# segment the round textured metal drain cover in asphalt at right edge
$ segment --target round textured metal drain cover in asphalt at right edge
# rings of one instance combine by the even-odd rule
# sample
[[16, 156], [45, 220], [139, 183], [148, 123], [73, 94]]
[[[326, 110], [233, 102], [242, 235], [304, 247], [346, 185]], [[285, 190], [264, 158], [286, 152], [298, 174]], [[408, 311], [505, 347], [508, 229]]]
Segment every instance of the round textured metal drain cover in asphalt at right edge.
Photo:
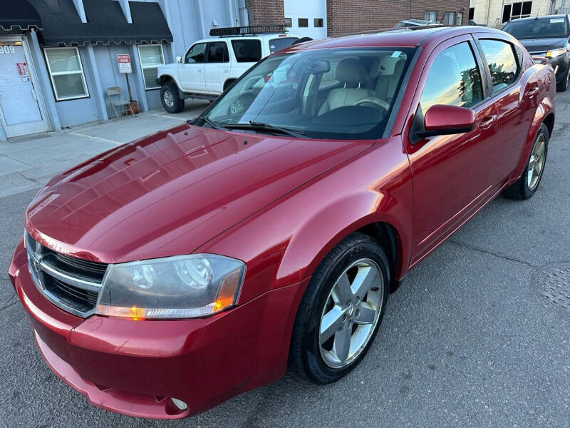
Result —
[[539, 295], [570, 311], [570, 264], [550, 265], [533, 275]]

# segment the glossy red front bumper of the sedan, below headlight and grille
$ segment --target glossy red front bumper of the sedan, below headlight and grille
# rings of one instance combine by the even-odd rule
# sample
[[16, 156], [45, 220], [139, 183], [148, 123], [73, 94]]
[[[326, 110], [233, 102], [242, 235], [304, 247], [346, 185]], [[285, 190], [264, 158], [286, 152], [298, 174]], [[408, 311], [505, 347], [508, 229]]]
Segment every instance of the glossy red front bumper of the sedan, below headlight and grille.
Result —
[[286, 370], [293, 308], [309, 281], [208, 318], [133, 321], [83, 319], [48, 302], [31, 281], [22, 241], [9, 276], [38, 349], [58, 377], [95, 406], [154, 419], [191, 416], [279, 379]]

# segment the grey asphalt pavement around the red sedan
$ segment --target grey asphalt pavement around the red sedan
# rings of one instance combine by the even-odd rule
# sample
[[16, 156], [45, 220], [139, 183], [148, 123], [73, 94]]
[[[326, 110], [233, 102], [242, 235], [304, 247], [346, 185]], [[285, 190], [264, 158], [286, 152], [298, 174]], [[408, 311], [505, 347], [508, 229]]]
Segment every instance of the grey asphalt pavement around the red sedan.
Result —
[[[340, 382], [314, 387], [287, 374], [173, 423], [105, 412], [43, 364], [2, 273], [0, 425], [568, 427], [570, 312], [532, 283], [541, 270], [570, 265], [570, 92], [557, 103], [534, 198], [498, 198], [410, 272], [388, 301], [371, 352]], [[0, 199], [1, 272], [35, 191]]]

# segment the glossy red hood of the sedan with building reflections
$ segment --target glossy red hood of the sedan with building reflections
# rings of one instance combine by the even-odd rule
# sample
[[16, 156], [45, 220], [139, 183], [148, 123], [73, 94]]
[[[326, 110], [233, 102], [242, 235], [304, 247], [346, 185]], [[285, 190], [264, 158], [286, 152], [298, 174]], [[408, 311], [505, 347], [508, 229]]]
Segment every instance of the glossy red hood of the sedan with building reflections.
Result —
[[185, 124], [56, 176], [28, 206], [26, 230], [60, 253], [104, 263], [192, 253], [371, 144]]

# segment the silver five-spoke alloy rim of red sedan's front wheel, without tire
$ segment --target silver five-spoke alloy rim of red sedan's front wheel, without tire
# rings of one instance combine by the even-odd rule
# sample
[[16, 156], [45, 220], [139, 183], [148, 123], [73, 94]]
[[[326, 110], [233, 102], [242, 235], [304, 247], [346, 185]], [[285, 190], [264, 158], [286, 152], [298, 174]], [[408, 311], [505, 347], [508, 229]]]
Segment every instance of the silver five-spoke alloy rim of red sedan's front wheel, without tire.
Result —
[[370, 259], [356, 260], [336, 279], [318, 330], [328, 367], [346, 367], [366, 348], [380, 319], [384, 287], [380, 267]]

